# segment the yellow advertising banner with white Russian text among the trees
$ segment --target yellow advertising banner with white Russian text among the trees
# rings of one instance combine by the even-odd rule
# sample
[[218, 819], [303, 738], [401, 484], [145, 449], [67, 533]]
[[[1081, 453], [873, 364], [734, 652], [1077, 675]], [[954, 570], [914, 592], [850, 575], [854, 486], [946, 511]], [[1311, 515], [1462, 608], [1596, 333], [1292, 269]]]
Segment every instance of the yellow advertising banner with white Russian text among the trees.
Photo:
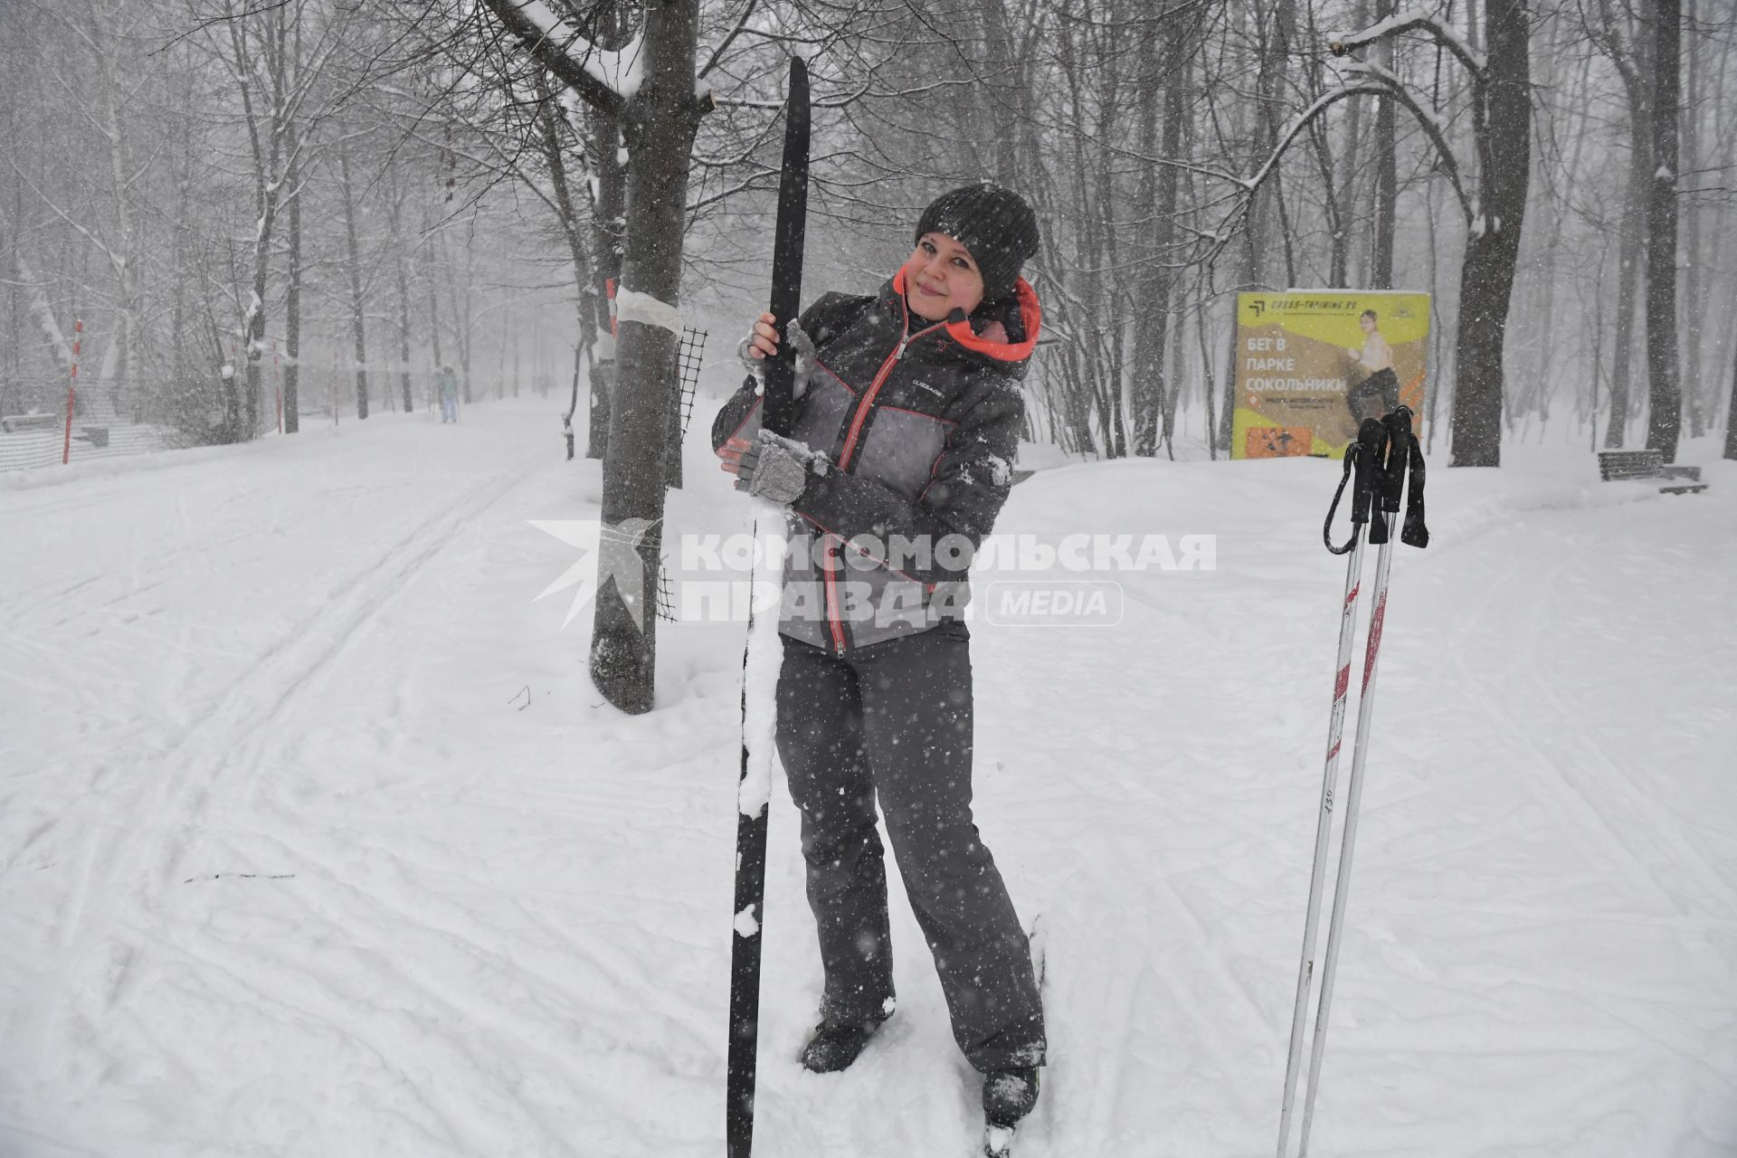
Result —
[[1428, 352], [1428, 293], [1238, 293], [1230, 457], [1343, 458], [1365, 417], [1423, 413]]

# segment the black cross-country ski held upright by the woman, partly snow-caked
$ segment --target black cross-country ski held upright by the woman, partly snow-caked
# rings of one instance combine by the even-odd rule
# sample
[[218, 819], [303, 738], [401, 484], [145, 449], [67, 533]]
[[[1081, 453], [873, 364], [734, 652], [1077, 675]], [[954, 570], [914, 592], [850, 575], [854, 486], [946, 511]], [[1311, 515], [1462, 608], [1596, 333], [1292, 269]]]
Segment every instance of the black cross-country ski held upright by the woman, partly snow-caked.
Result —
[[[778, 181], [778, 226], [771, 250], [771, 314], [780, 333], [796, 318], [802, 299], [802, 233], [808, 224], [808, 66], [790, 57], [790, 92], [783, 122], [783, 175]], [[796, 351], [780, 342], [766, 361], [766, 396], [761, 425], [789, 434], [796, 382]], [[775, 611], [776, 615], [776, 611]], [[766, 790], [750, 783], [750, 745], [769, 736], [749, 734], [749, 694], [766, 705], [773, 688], [749, 688], [749, 651], [754, 613], [749, 611], [749, 649], [742, 655], [742, 778], [736, 785], [736, 906], [730, 950], [730, 1075], [726, 1078], [724, 1141], [730, 1158], [754, 1151], [754, 1073], [759, 1043], [759, 965], [766, 899]], [[759, 707], [759, 705], [757, 705]], [[769, 715], [769, 714], [768, 714]], [[769, 753], [759, 753], [769, 760]]]

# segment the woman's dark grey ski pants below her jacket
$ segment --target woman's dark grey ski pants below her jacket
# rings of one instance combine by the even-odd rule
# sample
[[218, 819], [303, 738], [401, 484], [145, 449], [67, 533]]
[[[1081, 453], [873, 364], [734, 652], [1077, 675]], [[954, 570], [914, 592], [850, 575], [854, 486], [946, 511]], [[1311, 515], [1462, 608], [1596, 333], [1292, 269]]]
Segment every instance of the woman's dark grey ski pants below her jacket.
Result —
[[980, 1071], [1044, 1064], [1044, 1010], [1020, 918], [971, 821], [971, 648], [962, 623], [834, 656], [783, 637], [778, 755], [802, 813], [822, 1017], [891, 1010], [875, 799], [935, 955], [954, 1040]]

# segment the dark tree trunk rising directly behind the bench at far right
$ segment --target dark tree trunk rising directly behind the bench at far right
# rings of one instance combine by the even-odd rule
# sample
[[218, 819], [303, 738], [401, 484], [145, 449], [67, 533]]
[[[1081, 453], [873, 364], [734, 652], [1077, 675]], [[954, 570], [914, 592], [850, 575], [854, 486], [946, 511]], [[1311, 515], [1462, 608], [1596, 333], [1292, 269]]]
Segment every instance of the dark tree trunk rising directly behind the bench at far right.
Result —
[[1647, 205], [1647, 446], [1676, 462], [1683, 398], [1676, 356], [1676, 125], [1683, 14], [1678, 0], [1652, 0], [1652, 200]]

